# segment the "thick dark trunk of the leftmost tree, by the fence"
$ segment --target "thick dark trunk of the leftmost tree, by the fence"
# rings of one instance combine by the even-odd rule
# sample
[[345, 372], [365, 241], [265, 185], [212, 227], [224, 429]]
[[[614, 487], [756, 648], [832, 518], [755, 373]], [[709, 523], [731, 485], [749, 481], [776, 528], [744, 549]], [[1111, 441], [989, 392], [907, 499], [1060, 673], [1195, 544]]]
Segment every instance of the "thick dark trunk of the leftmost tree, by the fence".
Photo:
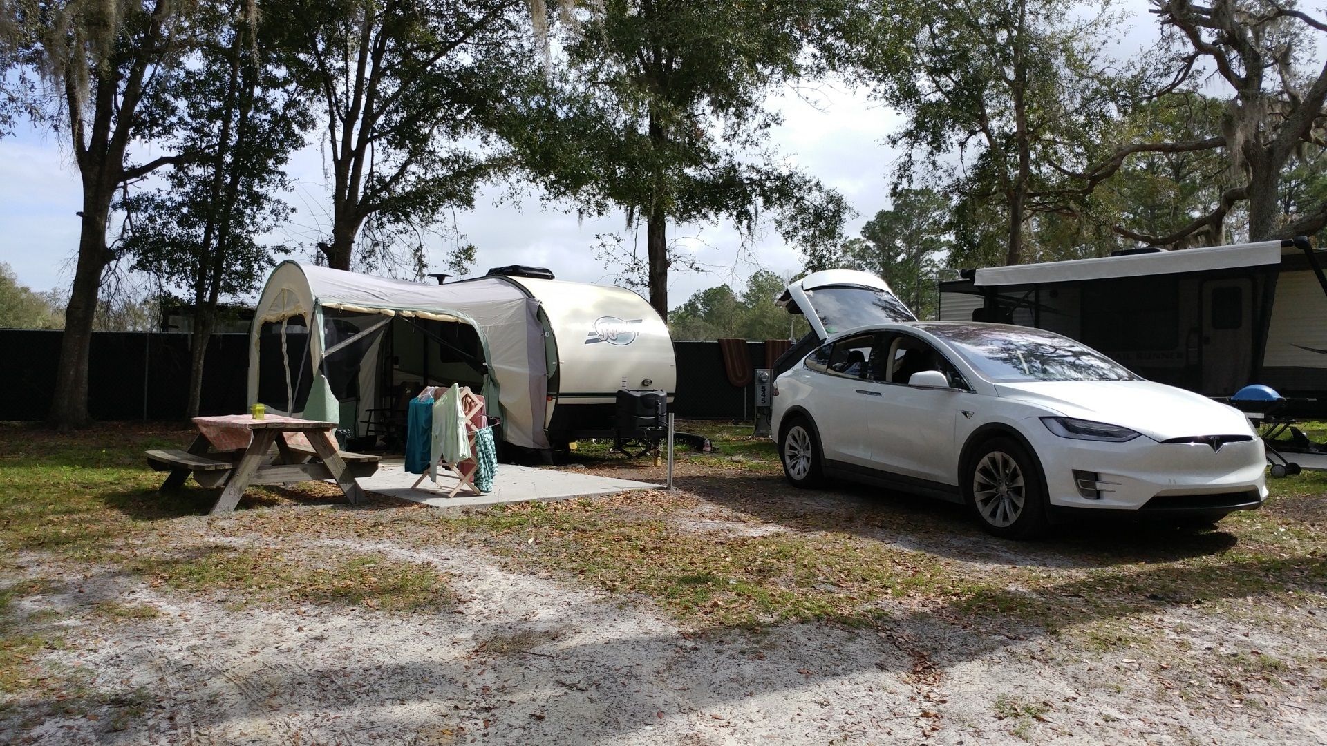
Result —
[[[88, 179], [88, 177], [84, 177]], [[97, 316], [101, 272], [110, 251], [106, 248], [106, 215], [110, 195], [96, 186], [84, 188], [82, 227], [78, 235], [78, 264], [65, 309], [65, 332], [60, 340], [60, 368], [50, 401], [48, 422], [60, 431], [85, 427], [88, 415], [88, 358], [92, 327]]]

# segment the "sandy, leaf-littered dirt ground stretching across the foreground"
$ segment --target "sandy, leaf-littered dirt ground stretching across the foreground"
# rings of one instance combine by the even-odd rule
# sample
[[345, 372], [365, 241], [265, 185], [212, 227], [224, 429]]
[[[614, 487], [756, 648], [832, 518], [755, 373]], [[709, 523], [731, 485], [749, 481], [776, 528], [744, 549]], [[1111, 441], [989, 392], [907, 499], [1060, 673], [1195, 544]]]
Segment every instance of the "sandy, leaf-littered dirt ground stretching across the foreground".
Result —
[[[573, 469], [662, 475], [606, 461]], [[1003, 605], [971, 613], [977, 595], [954, 589], [864, 596], [851, 619], [707, 623], [678, 612], [674, 591], [605, 587], [600, 565], [540, 560], [544, 536], [528, 527], [479, 530], [482, 519], [332, 498], [251, 506], [155, 524], [115, 543], [115, 560], [20, 550], [4, 584], [31, 588], [8, 615], [58, 644], [32, 656], [37, 681], [5, 697], [0, 741], [1327, 743], [1318, 548], [1303, 555], [1316, 563], [1311, 581], [1209, 588], [1208, 569], [1254, 561], [1239, 535], [1074, 527], [1015, 544], [979, 534], [955, 506], [799, 491], [722, 463], [683, 462], [678, 487], [569, 506], [568, 524], [576, 510], [645, 515], [652, 531], [697, 546], [851, 535], [974, 583], [997, 579]], [[1324, 515], [1322, 499], [1306, 499], [1265, 519], [1308, 542]], [[390, 609], [378, 596], [283, 597], [279, 584], [154, 567], [236, 552], [410, 563], [435, 572], [445, 592]], [[1214, 556], [1225, 559], [1186, 569]], [[1097, 604], [1093, 587], [1125, 575], [1129, 585], [1111, 585], [1120, 603]], [[831, 595], [855, 592], [825, 583]], [[1038, 604], [1054, 604], [1054, 625]]]

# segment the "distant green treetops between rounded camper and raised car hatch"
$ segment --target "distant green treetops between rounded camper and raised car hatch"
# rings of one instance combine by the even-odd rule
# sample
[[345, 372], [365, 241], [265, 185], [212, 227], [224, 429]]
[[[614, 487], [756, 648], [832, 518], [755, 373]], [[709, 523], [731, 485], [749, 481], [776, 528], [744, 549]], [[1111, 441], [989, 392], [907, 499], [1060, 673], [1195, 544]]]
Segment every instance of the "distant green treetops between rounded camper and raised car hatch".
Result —
[[746, 289], [729, 285], [697, 291], [669, 315], [674, 340], [787, 340], [807, 333], [805, 319], [774, 304], [787, 281], [767, 269], [747, 279]]

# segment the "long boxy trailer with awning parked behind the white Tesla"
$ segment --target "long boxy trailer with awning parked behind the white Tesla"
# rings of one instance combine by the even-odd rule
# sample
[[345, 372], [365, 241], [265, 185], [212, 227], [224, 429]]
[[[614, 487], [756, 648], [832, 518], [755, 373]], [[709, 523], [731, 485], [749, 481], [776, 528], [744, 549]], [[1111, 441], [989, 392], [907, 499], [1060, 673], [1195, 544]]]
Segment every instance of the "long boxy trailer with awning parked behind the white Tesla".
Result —
[[1327, 414], [1327, 277], [1307, 239], [990, 267], [940, 284], [940, 319], [1058, 332], [1208, 396], [1266, 384]]

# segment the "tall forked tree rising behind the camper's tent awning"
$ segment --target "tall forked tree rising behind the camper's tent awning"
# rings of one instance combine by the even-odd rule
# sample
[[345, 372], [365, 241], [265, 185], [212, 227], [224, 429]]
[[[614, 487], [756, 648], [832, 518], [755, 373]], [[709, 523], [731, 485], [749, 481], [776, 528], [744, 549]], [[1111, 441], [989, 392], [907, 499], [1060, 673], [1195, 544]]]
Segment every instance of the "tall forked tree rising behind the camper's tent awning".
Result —
[[503, 165], [492, 131], [537, 76], [525, 3], [275, 0], [265, 13], [281, 31], [280, 64], [326, 133], [324, 258], [422, 273], [425, 232], [471, 207]]

